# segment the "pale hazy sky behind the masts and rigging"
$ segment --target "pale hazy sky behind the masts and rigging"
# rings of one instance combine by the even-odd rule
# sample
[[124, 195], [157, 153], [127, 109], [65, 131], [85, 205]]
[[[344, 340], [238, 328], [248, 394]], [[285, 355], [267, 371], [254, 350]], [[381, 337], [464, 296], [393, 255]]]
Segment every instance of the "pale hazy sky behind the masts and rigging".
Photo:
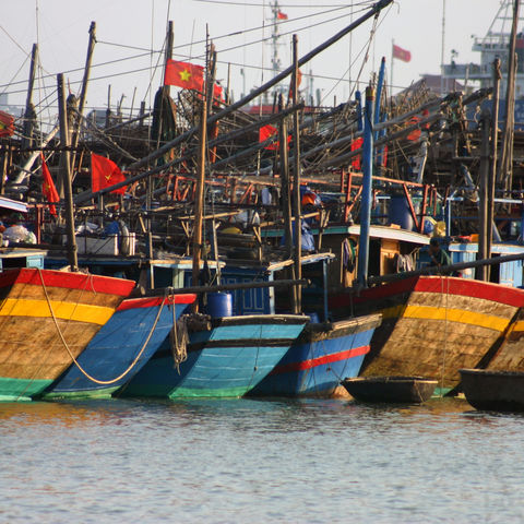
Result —
[[[274, 0], [272, 0], [273, 2]], [[281, 11], [288, 15], [279, 24], [279, 49], [283, 64], [290, 60], [291, 33], [299, 37], [299, 55], [306, 53], [335, 32], [361, 15], [369, 5], [366, 0], [353, 0], [354, 7], [344, 0], [279, 0]], [[260, 85], [271, 78], [271, 46], [262, 45], [264, 34], [271, 27], [241, 33], [270, 24], [270, 1], [262, 0], [2, 0], [0, 20], [0, 93], [9, 93], [10, 104], [23, 104], [29, 70], [28, 56], [33, 43], [40, 49], [40, 75], [34, 100], [43, 106], [56, 99], [56, 73], [64, 72], [76, 92], [82, 78], [87, 48], [91, 21], [97, 24], [97, 44], [94, 52], [92, 83], [87, 105], [105, 107], [108, 85], [111, 85], [111, 104], [122, 95], [123, 107], [130, 107], [136, 87], [134, 107], [141, 99], [146, 104], [162, 81], [162, 56], [167, 20], [175, 23], [175, 59], [191, 59], [202, 63], [206, 24], [218, 52], [217, 78], [227, 76], [227, 62], [231, 63], [231, 90], [238, 99], [246, 87]], [[9, 8], [8, 8], [9, 5]], [[500, 5], [499, 0], [446, 0], [445, 60], [450, 61], [451, 49], [458, 51], [457, 62], [477, 61], [478, 53], [472, 51], [472, 35], [484, 36]], [[341, 9], [342, 8], [342, 9]], [[354, 13], [352, 14], [352, 10]], [[322, 13], [323, 14], [319, 14]], [[325, 104], [347, 98], [357, 80], [372, 22], [368, 21], [330, 50], [317, 57], [310, 66], [302, 68], [315, 75], [313, 90], [321, 90]], [[382, 11], [373, 44], [369, 48], [369, 60], [360, 81], [367, 83], [370, 72], [378, 70], [382, 56], [390, 68], [391, 44], [412, 52], [409, 63], [395, 61], [394, 85], [406, 86], [418, 80], [421, 73], [438, 73], [442, 45], [442, 0], [397, 0]], [[255, 43], [245, 47], [245, 44]], [[191, 43], [193, 43], [191, 45]], [[128, 47], [126, 47], [128, 46]], [[155, 52], [151, 52], [153, 49]], [[110, 64], [103, 64], [109, 62]], [[76, 70], [76, 71], [74, 71]], [[342, 80], [341, 80], [342, 79]], [[390, 79], [390, 76], [389, 76]], [[302, 87], [307, 76], [302, 80]], [[52, 107], [46, 109], [49, 116]]]

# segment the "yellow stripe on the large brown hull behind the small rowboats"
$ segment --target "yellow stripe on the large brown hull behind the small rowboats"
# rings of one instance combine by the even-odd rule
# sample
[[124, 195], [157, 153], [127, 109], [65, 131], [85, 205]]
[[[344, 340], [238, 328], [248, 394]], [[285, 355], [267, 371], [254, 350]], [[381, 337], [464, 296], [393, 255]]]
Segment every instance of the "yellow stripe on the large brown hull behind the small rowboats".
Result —
[[394, 306], [393, 308], [383, 309], [381, 313], [386, 319], [404, 317], [407, 319], [448, 320], [495, 331], [504, 331], [510, 323], [509, 319], [492, 314], [477, 313], [464, 309], [434, 308], [431, 306]]

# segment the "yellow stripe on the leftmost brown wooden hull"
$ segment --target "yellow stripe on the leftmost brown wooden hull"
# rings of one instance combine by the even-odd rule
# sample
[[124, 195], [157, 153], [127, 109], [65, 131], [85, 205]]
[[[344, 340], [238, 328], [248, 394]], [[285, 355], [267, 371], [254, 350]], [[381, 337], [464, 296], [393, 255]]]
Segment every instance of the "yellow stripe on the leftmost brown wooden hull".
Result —
[[[112, 315], [112, 308], [51, 300], [57, 319], [104, 325]], [[0, 306], [0, 317], [51, 317], [47, 300], [7, 298]]]

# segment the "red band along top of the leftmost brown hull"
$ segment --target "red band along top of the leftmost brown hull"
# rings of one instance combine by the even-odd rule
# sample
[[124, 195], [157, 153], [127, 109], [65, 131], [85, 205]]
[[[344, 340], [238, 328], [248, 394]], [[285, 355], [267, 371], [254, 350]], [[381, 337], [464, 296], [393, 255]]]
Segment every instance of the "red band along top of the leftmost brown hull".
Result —
[[[110, 276], [86, 275], [84, 273], [69, 273], [64, 271], [40, 270], [47, 287], [63, 287], [67, 289], [84, 289], [86, 291], [103, 293], [127, 297], [135, 283], [124, 278]], [[36, 269], [5, 270], [0, 273], [0, 287], [13, 284], [29, 284], [41, 286], [40, 275]]]

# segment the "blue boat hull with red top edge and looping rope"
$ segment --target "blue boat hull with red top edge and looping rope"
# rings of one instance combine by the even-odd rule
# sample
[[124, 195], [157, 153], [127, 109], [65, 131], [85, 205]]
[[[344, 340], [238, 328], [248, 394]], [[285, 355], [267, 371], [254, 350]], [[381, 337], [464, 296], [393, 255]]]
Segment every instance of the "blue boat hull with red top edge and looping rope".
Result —
[[44, 398], [110, 396], [142, 369], [169, 335], [172, 308], [177, 320], [195, 298], [175, 295], [124, 300], [78, 359], [91, 378], [72, 365]]

